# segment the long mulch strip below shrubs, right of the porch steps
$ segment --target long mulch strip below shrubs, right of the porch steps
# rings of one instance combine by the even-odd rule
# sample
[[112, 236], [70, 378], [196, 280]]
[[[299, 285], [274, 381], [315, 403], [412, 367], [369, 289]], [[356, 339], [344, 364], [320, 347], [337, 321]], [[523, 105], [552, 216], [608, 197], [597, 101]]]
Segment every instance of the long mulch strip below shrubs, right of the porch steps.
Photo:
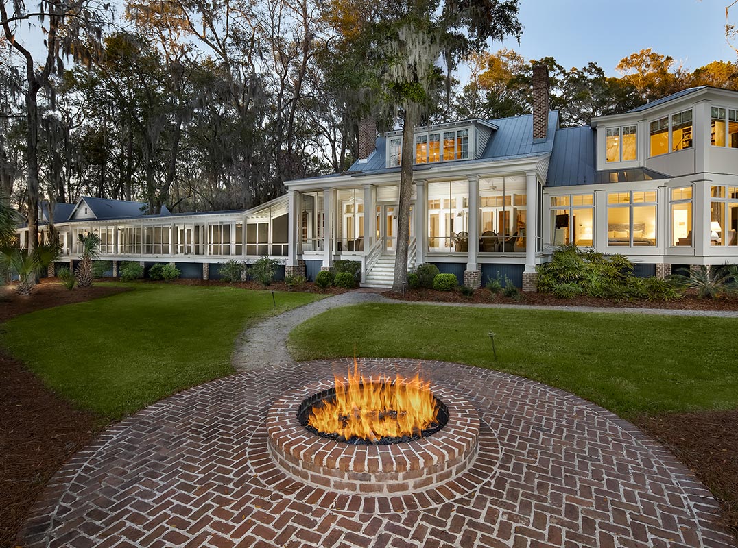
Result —
[[464, 296], [460, 291], [435, 291], [435, 289], [410, 289], [404, 296], [391, 291], [384, 293], [390, 299], [426, 302], [459, 302], [475, 304], [500, 305], [542, 305], [551, 307], [593, 306], [600, 308], [666, 308], [669, 310], [696, 311], [738, 311], [738, 299], [697, 299], [693, 294], [686, 294], [673, 301], [625, 301], [617, 302], [609, 299], [597, 299], [591, 296], [578, 296], [575, 299], [559, 299], [545, 293], [521, 293], [517, 299], [494, 294], [484, 288], [477, 289], [471, 296]]

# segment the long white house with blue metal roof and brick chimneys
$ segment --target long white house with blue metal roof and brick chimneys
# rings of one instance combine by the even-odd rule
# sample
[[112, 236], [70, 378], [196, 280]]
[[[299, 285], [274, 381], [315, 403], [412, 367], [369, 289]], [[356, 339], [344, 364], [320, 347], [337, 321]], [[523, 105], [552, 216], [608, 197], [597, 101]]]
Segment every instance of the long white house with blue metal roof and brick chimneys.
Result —
[[[204, 265], [207, 277], [210, 264], [269, 254], [312, 279], [348, 259], [365, 285], [389, 286], [402, 135], [361, 133], [346, 173], [287, 181], [286, 195], [248, 211], [149, 216], [82, 198], [56, 218], [66, 258], [78, 232], [97, 230], [114, 261], [174, 261], [190, 275]], [[408, 268], [435, 263], [470, 286], [499, 272], [529, 290], [563, 243], [626, 254], [641, 275], [738, 264], [737, 91], [686, 89], [559, 128], [541, 66], [533, 114], [418, 128], [414, 145]]]

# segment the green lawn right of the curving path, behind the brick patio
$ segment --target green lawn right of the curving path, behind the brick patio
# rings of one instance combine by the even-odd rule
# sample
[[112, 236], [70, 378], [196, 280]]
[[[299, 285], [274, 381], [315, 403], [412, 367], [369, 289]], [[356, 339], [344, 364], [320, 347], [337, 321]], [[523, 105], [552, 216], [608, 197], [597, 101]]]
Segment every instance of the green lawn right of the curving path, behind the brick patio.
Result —
[[[497, 333], [498, 363], [488, 332]], [[300, 325], [298, 360], [429, 358], [523, 375], [624, 417], [738, 407], [738, 319], [357, 305]]]

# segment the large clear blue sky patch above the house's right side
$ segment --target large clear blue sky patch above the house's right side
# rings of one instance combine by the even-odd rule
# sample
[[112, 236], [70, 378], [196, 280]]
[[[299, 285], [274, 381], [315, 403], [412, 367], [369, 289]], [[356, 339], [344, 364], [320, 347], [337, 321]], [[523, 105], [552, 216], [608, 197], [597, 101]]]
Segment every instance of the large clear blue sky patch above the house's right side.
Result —
[[[618, 61], [651, 48], [694, 70], [713, 60], [737, 60], [725, 42], [725, 7], [732, 1], [520, 0], [520, 46], [512, 39], [490, 51], [505, 46], [526, 59], [550, 56], [565, 69], [595, 61], [608, 76], [618, 76]], [[738, 4], [730, 13], [738, 25]]]

